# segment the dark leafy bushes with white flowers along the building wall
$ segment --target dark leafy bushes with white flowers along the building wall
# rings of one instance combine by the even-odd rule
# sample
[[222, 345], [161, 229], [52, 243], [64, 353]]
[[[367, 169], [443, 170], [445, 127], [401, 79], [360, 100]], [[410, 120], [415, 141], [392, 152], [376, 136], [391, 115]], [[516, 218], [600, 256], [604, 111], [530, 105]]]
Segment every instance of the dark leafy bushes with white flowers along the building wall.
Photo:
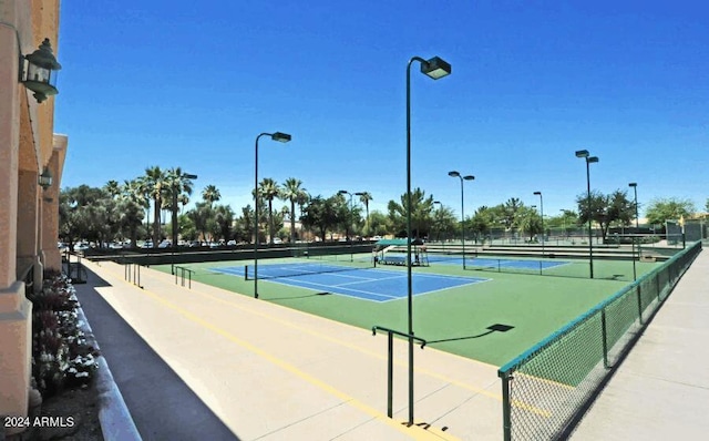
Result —
[[60, 273], [47, 274], [42, 289], [28, 298], [33, 304], [32, 375], [42, 398], [88, 384], [99, 368], [99, 351], [81, 330], [71, 280]]

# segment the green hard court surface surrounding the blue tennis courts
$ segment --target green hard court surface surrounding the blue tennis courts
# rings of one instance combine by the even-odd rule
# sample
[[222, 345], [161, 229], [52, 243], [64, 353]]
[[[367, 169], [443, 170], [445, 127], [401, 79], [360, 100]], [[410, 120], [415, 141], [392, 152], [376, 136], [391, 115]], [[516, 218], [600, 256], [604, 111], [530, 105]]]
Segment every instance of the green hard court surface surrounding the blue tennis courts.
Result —
[[[330, 256], [332, 257], [332, 256]], [[357, 260], [371, 259], [371, 255], [332, 257], [339, 260], [325, 265], [358, 265]], [[259, 259], [259, 273], [270, 264], [292, 264], [307, 259], [280, 258]], [[309, 260], [315, 260], [310, 258]], [[538, 260], [538, 259], [537, 259]], [[561, 261], [561, 260], [559, 260]], [[564, 259], [566, 265], [545, 270], [545, 275], [505, 273], [490, 270], [464, 270], [462, 266], [431, 263], [429, 267], [414, 267], [413, 328], [418, 337], [424, 338], [436, 349], [458, 353], [491, 365], [501, 366], [527, 348], [546, 338], [574, 318], [584, 314], [621, 287], [633, 281], [633, 263], [617, 260], [594, 261], [595, 279], [588, 279], [588, 260]], [[245, 296], [254, 295], [254, 280], [246, 280], [244, 266], [253, 260], [208, 261], [183, 265], [193, 270], [193, 280], [217, 286]], [[659, 264], [636, 263], [638, 277]], [[153, 266], [171, 273], [171, 265]], [[223, 270], [214, 270], [220, 268]], [[225, 268], [238, 268], [234, 273]], [[575, 270], [578, 277], [547, 276], [553, 270]], [[326, 317], [362, 328], [362, 336], [369, 336], [372, 326], [392, 329], [408, 328], [407, 268], [388, 266], [376, 269], [366, 264], [361, 269], [347, 269], [342, 274], [376, 279], [386, 273], [392, 285], [383, 280], [372, 280], [378, 296], [387, 296], [386, 301], [371, 301], [362, 293], [339, 293], [337, 289], [349, 285], [337, 280], [326, 280], [335, 274], [315, 276], [315, 283], [282, 283], [280, 278], [258, 281], [259, 299], [288, 308]], [[359, 274], [359, 275], [358, 275]], [[584, 276], [585, 275], [585, 276]], [[433, 276], [433, 277], [429, 277]], [[443, 276], [443, 277], [441, 277]], [[310, 276], [308, 276], [310, 277]], [[585, 277], [585, 278], [584, 278]], [[259, 275], [260, 278], [260, 275]], [[302, 278], [292, 277], [294, 280]], [[415, 280], [441, 280], [417, 290]], [[489, 279], [485, 283], [453, 284], [452, 280]], [[312, 281], [306, 278], [308, 281]], [[442, 280], [446, 280], [445, 284]], [[351, 279], [358, 286], [361, 279]], [[339, 285], [339, 287], [338, 287]], [[357, 289], [360, 289], [361, 286]], [[193, 289], [194, 286], [193, 286]], [[370, 289], [361, 289], [370, 290]], [[415, 295], [417, 293], [425, 295]], [[380, 298], [380, 297], [378, 297]], [[496, 325], [502, 325], [497, 327]]]

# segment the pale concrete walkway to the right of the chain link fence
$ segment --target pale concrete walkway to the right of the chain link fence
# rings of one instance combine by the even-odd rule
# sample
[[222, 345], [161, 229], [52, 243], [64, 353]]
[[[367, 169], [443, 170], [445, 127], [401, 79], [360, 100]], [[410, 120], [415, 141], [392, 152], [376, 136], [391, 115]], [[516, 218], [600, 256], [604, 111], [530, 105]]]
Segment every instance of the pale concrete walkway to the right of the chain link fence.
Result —
[[709, 252], [703, 250], [572, 439], [707, 439], [708, 341]]

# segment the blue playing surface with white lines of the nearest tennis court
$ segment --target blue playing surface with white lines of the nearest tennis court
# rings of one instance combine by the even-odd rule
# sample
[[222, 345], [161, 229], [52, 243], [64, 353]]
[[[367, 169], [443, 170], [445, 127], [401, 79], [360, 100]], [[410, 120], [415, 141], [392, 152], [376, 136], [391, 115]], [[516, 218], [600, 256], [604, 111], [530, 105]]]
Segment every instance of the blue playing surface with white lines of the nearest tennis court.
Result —
[[[276, 269], [277, 268], [277, 269]], [[292, 270], [292, 275], [284, 275], [282, 268]], [[269, 265], [258, 266], [258, 278], [281, 285], [297, 286], [319, 293], [339, 294], [372, 301], [390, 301], [408, 296], [407, 273], [376, 268], [352, 268], [319, 265], [312, 274], [307, 274], [308, 265], [274, 265], [273, 278], [269, 277]], [[244, 276], [244, 267], [212, 268], [214, 271]], [[316, 273], [319, 271], [319, 273]], [[328, 273], [329, 270], [329, 273]], [[326, 273], [322, 273], [326, 271]], [[250, 267], [249, 267], [250, 273]], [[306, 273], [306, 274], [302, 274]], [[249, 274], [249, 277], [253, 275]], [[414, 296], [430, 294], [443, 289], [474, 285], [486, 281], [480, 277], [456, 277], [436, 274], [413, 274], [412, 291]]]

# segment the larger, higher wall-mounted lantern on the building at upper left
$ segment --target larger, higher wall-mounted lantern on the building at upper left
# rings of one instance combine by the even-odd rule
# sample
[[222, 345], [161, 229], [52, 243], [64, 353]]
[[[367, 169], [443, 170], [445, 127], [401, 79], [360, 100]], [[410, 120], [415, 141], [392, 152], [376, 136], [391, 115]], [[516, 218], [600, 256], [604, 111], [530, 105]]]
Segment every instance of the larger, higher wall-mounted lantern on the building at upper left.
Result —
[[[27, 63], [24, 63], [27, 60]], [[27, 65], [27, 69], [24, 66]], [[40, 48], [29, 55], [20, 59], [20, 82], [24, 83], [27, 89], [34, 92], [38, 103], [47, 100], [48, 96], [59, 93], [56, 90], [56, 72], [62, 65], [56, 62], [52, 53], [52, 44], [49, 39], [44, 39]]]

